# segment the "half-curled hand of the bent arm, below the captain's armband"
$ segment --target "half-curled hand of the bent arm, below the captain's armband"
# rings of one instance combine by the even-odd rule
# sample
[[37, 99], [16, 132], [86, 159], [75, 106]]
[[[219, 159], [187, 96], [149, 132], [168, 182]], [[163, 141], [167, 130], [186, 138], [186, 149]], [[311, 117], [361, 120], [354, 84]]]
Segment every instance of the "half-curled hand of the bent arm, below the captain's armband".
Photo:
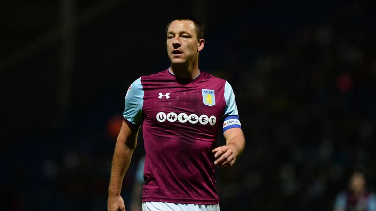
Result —
[[214, 165], [221, 169], [227, 169], [234, 165], [236, 161], [236, 152], [231, 145], [224, 145], [211, 151], [214, 153]]

